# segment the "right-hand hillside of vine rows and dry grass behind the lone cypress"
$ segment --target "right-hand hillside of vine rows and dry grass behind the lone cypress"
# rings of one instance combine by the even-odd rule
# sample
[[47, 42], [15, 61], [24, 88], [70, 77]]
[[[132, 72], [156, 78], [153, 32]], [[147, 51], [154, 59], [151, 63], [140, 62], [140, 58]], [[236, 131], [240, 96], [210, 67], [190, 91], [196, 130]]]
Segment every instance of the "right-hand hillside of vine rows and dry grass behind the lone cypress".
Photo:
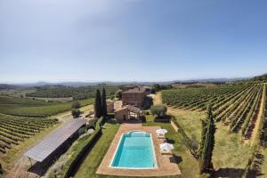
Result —
[[[200, 120], [206, 117], [206, 105], [212, 104], [217, 128], [213, 176], [242, 177], [248, 173], [265, 177], [267, 154], [262, 145], [266, 144], [263, 134], [267, 128], [266, 113], [264, 116], [266, 89], [264, 84], [223, 85], [208, 89], [166, 90], [161, 95], [162, 101], [169, 106], [169, 113], [185, 133], [198, 142]], [[262, 155], [260, 160], [258, 155]]]

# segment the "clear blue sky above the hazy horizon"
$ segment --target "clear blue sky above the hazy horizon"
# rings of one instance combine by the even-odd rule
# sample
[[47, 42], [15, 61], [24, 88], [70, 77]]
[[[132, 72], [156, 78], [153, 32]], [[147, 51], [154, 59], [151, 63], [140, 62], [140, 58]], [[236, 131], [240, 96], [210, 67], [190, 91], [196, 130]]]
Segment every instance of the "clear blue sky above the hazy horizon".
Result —
[[0, 0], [0, 82], [267, 72], [265, 0]]

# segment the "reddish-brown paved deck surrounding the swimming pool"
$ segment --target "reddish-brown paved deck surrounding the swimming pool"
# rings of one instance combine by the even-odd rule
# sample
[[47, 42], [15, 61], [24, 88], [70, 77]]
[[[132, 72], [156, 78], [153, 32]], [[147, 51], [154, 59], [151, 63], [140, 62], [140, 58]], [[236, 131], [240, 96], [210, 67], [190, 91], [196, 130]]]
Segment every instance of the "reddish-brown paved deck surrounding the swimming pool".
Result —
[[[142, 126], [142, 124], [122, 124], [120, 125], [117, 134], [115, 135], [113, 142], [109, 146], [109, 150], [103, 158], [101, 165], [98, 167], [96, 174], [109, 174], [120, 176], [166, 176], [166, 175], [178, 175], [181, 171], [172, 155], [161, 155], [159, 150], [159, 144], [164, 142], [163, 139], [158, 139], [156, 130], [159, 126]], [[129, 131], [140, 130], [152, 134], [152, 139], [155, 148], [155, 154], [157, 158], [158, 167], [154, 169], [121, 169], [110, 167], [110, 162], [115, 155], [117, 144], [122, 134]]]

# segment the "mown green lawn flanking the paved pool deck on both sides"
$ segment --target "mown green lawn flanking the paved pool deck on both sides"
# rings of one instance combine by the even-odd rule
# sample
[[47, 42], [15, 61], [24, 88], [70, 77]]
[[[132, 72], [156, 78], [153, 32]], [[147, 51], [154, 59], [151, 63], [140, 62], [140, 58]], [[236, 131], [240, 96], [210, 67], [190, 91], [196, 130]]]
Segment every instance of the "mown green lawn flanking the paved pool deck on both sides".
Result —
[[[166, 128], [169, 133], [166, 134], [169, 142], [174, 143], [174, 150], [176, 155], [178, 156], [179, 160], [179, 167], [182, 170], [182, 176], [180, 177], [198, 177], [198, 168], [194, 168], [193, 170], [191, 167], [198, 167], [198, 163], [195, 158], [192, 158], [190, 152], [186, 150], [181, 145], [181, 138], [179, 134], [174, 132], [174, 129], [169, 123], [155, 123], [152, 117], [147, 118], [147, 123], [143, 124], [144, 126], [150, 125], [160, 125], [162, 128]], [[95, 174], [98, 166], [101, 164], [102, 158], [104, 158], [107, 150], [109, 149], [110, 143], [113, 141], [115, 134], [117, 133], [118, 129], [117, 125], [106, 124], [106, 129], [103, 129], [103, 134], [101, 138], [93, 147], [93, 150], [87, 155], [83, 164], [77, 170], [77, 174], [75, 175], [76, 178], [111, 178], [111, 177], [118, 177], [113, 175], [99, 175]], [[177, 176], [166, 176], [164, 178], [174, 178]]]

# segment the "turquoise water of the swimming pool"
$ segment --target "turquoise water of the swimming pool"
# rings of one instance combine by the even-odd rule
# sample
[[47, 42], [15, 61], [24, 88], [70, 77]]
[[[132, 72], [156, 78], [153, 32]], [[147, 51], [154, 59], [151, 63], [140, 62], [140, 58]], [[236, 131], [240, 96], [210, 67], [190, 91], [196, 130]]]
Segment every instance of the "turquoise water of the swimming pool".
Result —
[[151, 135], [133, 131], [123, 134], [111, 166], [119, 168], [155, 168], [156, 158]]

